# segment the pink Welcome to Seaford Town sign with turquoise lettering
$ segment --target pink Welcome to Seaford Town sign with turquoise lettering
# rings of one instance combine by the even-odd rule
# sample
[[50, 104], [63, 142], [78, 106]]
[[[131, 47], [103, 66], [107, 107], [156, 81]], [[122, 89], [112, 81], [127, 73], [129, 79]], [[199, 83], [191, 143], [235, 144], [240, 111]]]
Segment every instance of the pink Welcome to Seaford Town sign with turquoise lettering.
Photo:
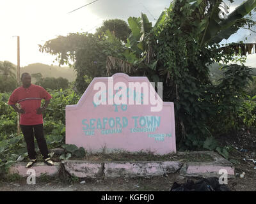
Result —
[[66, 143], [88, 152], [176, 152], [174, 106], [147, 77], [94, 78], [76, 105], [66, 106]]

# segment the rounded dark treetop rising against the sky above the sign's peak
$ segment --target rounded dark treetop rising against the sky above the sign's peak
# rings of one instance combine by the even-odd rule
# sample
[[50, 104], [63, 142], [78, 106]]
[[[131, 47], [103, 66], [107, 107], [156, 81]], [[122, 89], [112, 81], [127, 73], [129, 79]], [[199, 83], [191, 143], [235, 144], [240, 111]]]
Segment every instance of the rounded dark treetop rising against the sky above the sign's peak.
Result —
[[99, 36], [99, 38], [102, 39], [108, 30], [113, 33], [116, 38], [124, 42], [127, 41], [127, 38], [131, 33], [131, 29], [124, 20], [110, 19], [104, 20], [103, 25], [96, 29], [95, 36]]

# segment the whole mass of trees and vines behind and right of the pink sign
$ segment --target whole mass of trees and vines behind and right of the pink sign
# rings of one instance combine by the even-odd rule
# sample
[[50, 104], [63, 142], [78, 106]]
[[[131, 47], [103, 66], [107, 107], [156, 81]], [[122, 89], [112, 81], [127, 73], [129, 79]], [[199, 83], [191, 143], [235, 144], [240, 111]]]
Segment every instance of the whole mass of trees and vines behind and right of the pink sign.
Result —
[[[220, 3], [221, 0], [172, 1], [154, 27], [143, 13], [138, 18], [130, 17], [131, 34], [125, 45], [111, 31], [100, 39], [77, 33], [47, 41], [41, 51], [57, 55], [60, 64], [76, 59], [76, 85], [81, 93], [92, 78], [120, 71], [163, 82], [163, 100], [175, 103], [179, 149], [211, 149], [227, 157], [212, 135], [241, 126], [238, 116], [251, 73], [243, 66], [243, 50], [234, 45], [221, 48], [218, 43], [248, 24], [244, 15], [256, 3], [246, 1], [227, 19], [218, 17]], [[224, 67], [220, 81], [212, 84], [209, 66], [220, 61], [242, 65]], [[243, 123], [252, 122], [241, 117], [246, 118]]]

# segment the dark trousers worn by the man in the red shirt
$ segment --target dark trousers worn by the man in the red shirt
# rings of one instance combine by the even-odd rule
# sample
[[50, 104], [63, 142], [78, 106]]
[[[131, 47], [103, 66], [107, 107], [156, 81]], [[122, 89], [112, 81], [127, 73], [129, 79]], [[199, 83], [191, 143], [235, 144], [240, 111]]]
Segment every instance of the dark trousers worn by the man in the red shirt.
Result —
[[43, 158], [46, 159], [47, 157], [49, 157], [46, 140], [44, 138], [43, 124], [38, 124], [34, 126], [20, 125], [20, 129], [24, 135], [24, 139], [27, 144], [29, 159], [36, 159], [34, 133], [35, 133], [36, 142], [38, 144], [39, 150]]

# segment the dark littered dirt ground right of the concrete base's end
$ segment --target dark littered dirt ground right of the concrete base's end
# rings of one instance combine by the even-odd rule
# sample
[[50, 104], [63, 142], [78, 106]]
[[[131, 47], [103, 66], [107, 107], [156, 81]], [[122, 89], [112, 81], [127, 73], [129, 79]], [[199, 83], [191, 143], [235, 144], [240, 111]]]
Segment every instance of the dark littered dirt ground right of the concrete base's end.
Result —
[[[232, 191], [256, 191], [256, 130], [241, 129], [237, 133], [221, 135], [217, 141], [228, 147], [229, 160], [235, 168], [236, 178], [230, 179]], [[244, 173], [241, 179], [240, 175]]]

